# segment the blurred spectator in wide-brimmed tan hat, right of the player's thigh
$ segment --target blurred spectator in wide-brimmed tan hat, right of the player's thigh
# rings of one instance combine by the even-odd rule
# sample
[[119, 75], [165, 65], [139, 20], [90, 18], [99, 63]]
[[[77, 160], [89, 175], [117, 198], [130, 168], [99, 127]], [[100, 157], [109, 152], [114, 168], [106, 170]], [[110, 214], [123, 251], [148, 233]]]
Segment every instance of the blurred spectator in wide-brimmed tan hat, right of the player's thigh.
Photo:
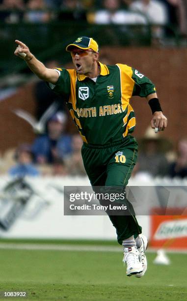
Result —
[[[161, 151], [161, 138], [152, 128], [148, 128], [140, 143], [140, 152], [137, 157], [136, 173], [151, 177], [163, 177], [168, 173], [168, 162]], [[165, 143], [167, 141], [164, 140]]]

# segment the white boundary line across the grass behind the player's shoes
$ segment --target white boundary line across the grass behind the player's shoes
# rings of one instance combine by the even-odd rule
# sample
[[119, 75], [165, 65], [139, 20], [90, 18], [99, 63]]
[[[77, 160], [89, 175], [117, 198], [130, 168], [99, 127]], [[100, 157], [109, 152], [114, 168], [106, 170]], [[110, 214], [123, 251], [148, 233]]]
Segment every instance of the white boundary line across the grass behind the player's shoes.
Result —
[[[47, 243], [11, 243], [0, 242], [0, 249], [11, 250], [43, 250], [43, 251], [89, 251], [89, 252], [121, 252], [120, 246], [108, 246], [108, 245], [82, 245], [82, 244], [47, 244]], [[156, 248], [148, 248], [148, 253], [157, 252]], [[167, 253], [184, 253], [187, 254], [187, 250], [167, 250]]]

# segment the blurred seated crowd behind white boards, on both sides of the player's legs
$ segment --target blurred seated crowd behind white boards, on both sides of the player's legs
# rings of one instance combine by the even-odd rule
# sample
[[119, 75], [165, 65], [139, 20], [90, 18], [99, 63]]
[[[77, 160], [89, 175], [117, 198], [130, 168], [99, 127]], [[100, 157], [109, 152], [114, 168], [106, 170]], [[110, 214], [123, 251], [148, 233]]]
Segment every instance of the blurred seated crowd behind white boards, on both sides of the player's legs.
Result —
[[[82, 139], [79, 133], [67, 132], [66, 114], [56, 112], [47, 121], [44, 134], [36, 135], [32, 144], [23, 143], [11, 150], [6, 173], [12, 177], [86, 176], [81, 158]], [[148, 127], [138, 142], [138, 159], [132, 178], [140, 181], [156, 177], [187, 178], [187, 137], [173, 147], [160, 133], [155, 134]]]

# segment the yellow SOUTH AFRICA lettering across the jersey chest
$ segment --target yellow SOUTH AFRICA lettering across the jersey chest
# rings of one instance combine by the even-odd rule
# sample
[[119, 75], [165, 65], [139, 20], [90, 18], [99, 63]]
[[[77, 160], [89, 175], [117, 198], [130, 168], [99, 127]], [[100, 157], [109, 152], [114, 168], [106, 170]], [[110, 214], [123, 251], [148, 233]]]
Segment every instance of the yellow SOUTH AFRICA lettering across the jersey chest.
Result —
[[106, 106], [100, 106], [99, 112], [97, 112], [96, 107], [91, 108], [77, 108], [77, 114], [78, 118], [80, 117], [97, 117], [97, 114], [99, 116], [106, 116], [106, 115], [113, 115], [113, 114], [119, 114], [122, 113], [123, 109], [120, 103], [115, 103], [112, 105], [106, 105]]

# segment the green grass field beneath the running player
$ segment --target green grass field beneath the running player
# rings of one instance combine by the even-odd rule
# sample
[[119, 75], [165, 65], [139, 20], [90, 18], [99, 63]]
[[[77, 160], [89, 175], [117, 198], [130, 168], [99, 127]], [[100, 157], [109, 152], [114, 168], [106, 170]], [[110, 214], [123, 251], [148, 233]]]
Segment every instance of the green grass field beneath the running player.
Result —
[[[149, 269], [144, 277], [135, 278], [126, 276], [122, 254], [107, 250], [113, 243], [103, 244], [106, 251], [99, 250], [101, 244], [99, 251], [78, 251], [78, 244], [69, 245], [71, 250], [4, 246], [0, 249], [0, 291], [27, 291], [27, 300], [187, 300], [187, 254], [169, 253], [171, 265], [156, 266], [156, 254], [148, 252]], [[85, 242], [79, 246], [81, 249]]]

